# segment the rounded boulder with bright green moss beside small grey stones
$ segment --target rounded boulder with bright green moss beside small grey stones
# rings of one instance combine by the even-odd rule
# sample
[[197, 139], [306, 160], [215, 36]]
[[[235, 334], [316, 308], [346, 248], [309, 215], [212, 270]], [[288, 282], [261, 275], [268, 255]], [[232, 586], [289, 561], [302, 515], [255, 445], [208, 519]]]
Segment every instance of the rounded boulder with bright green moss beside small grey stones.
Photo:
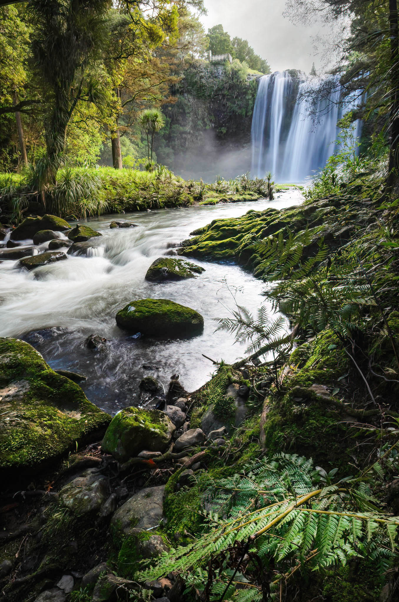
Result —
[[174, 432], [174, 424], [159, 410], [125, 408], [113, 417], [108, 426], [102, 450], [125, 462], [143, 450], [163, 452]]

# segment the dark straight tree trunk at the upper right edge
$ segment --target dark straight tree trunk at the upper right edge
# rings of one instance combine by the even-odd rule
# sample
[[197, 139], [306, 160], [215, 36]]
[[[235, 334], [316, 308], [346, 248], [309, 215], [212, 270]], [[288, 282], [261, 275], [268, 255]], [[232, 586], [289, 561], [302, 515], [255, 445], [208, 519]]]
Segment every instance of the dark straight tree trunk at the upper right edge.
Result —
[[399, 167], [399, 31], [397, 0], [389, 0], [389, 33], [391, 39], [391, 140], [387, 183], [388, 188], [393, 188], [398, 179]]

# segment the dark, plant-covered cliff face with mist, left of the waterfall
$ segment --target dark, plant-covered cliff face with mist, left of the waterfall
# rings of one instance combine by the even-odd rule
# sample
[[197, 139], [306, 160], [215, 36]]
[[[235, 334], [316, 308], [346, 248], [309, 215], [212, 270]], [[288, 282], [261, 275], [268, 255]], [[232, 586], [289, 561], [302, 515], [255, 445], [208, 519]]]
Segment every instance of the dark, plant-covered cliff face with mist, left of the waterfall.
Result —
[[257, 79], [242, 70], [193, 63], [164, 105], [166, 127], [154, 144], [160, 163], [185, 178], [234, 177], [250, 169]]

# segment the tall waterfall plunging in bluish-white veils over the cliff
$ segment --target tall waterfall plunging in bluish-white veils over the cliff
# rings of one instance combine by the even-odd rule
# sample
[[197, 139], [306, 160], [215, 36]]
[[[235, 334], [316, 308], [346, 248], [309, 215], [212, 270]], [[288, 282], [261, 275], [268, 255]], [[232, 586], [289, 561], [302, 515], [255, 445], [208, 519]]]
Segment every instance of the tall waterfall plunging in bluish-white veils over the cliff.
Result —
[[[337, 122], [359, 105], [359, 94], [343, 100], [335, 78], [332, 91], [311, 111], [307, 92], [317, 93], [322, 81], [288, 71], [260, 78], [251, 129], [253, 176], [271, 172], [279, 182], [302, 182], [336, 152]], [[357, 122], [355, 135], [360, 131]]]

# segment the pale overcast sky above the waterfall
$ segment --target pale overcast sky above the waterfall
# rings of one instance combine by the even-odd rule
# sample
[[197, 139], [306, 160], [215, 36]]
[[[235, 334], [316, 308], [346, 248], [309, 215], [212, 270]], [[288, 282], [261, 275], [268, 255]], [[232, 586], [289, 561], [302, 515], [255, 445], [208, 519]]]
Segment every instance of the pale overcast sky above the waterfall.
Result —
[[315, 54], [312, 37], [322, 34], [322, 28], [294, 25], [284, 19], [285, 0], [205, 0], [205, 5], [208, 14], [201, 18], [206, 31], [222, 23], [231, 37], [247, 39], [272, 71], [301, 69], [309, 73], [313, 61], [319, 69], [321, 57]]

